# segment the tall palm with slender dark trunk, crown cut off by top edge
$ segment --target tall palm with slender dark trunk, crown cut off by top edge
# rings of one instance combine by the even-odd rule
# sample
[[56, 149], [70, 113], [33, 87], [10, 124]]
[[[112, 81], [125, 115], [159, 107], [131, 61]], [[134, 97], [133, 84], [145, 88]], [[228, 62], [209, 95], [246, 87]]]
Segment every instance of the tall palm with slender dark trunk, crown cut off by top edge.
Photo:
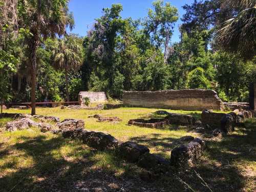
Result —
[[69, 0], [19, 0], [19, 28], [28, 29], [26, 42], [29, 48], [31, 67], [31, 114], [35, 114], [36, 50], [42, 39], [66, 33], [66, 26], [73, 27], [73, 17], [68, 13]]

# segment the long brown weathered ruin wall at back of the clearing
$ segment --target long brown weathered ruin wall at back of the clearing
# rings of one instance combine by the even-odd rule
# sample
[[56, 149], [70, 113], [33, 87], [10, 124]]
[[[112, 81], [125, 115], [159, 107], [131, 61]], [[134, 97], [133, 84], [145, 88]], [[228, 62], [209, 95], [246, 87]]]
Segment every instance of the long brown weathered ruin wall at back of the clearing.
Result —
[[214, 90], [124, 91], [123, 104], [173, 110], [223, 110]]

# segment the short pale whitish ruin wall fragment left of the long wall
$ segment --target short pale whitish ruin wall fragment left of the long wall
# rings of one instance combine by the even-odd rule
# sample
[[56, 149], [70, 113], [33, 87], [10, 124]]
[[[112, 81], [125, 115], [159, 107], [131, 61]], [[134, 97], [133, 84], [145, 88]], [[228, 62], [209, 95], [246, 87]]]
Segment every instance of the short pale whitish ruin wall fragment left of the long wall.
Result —
[[82, 99], [85, 97], [88, 97], [91, 103], [106, 101], [106, 95], [104, 92], [81, 91], [79, 92], [79, 95], [78, 95], [79, 104], [82, 104]]

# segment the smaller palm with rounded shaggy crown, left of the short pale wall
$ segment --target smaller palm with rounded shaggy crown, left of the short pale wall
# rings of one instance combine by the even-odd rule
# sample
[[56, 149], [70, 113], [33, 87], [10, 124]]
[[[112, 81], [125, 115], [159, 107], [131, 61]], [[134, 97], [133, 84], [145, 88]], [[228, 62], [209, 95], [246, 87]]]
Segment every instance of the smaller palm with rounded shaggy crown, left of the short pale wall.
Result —
[[69, 102], [69, 71], [77, 71], [82, 65], [82, 48], [75, 35], [66, 35], [58, 42], [58, 49], [54, 52], [54, 66], [64, 70], [66, 77], [66, 100]]

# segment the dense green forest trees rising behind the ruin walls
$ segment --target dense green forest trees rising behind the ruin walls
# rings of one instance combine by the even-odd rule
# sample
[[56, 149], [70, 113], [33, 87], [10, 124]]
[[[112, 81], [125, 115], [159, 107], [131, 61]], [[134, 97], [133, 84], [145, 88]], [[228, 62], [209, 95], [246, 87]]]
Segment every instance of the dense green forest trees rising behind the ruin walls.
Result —
[[[216, 0], [184, 5], [180, 41], [172, 42], [178, 10], [162, 0], [139, 20], [122, 18], [120, 4], [104, 8], [85, 37], [66, 33], [65, 25], [74, 25], [67, 3], [19, 0], [18, 35], [11, 33], [14, 25], [1, 21], [2, 100], [30, 101], [34, 69], [36, 101], [76, 101], [81, 90], [121, 98], [123, 90], [187, 88], [214, 89], [225, 101], [248, 101], [249, 82], [256, 81], [255, 53], [248, 59], [227, 53], [215, 36], [215, 29], [242, 8]], [[33, 21], [39, 27], [30, 25]]]

